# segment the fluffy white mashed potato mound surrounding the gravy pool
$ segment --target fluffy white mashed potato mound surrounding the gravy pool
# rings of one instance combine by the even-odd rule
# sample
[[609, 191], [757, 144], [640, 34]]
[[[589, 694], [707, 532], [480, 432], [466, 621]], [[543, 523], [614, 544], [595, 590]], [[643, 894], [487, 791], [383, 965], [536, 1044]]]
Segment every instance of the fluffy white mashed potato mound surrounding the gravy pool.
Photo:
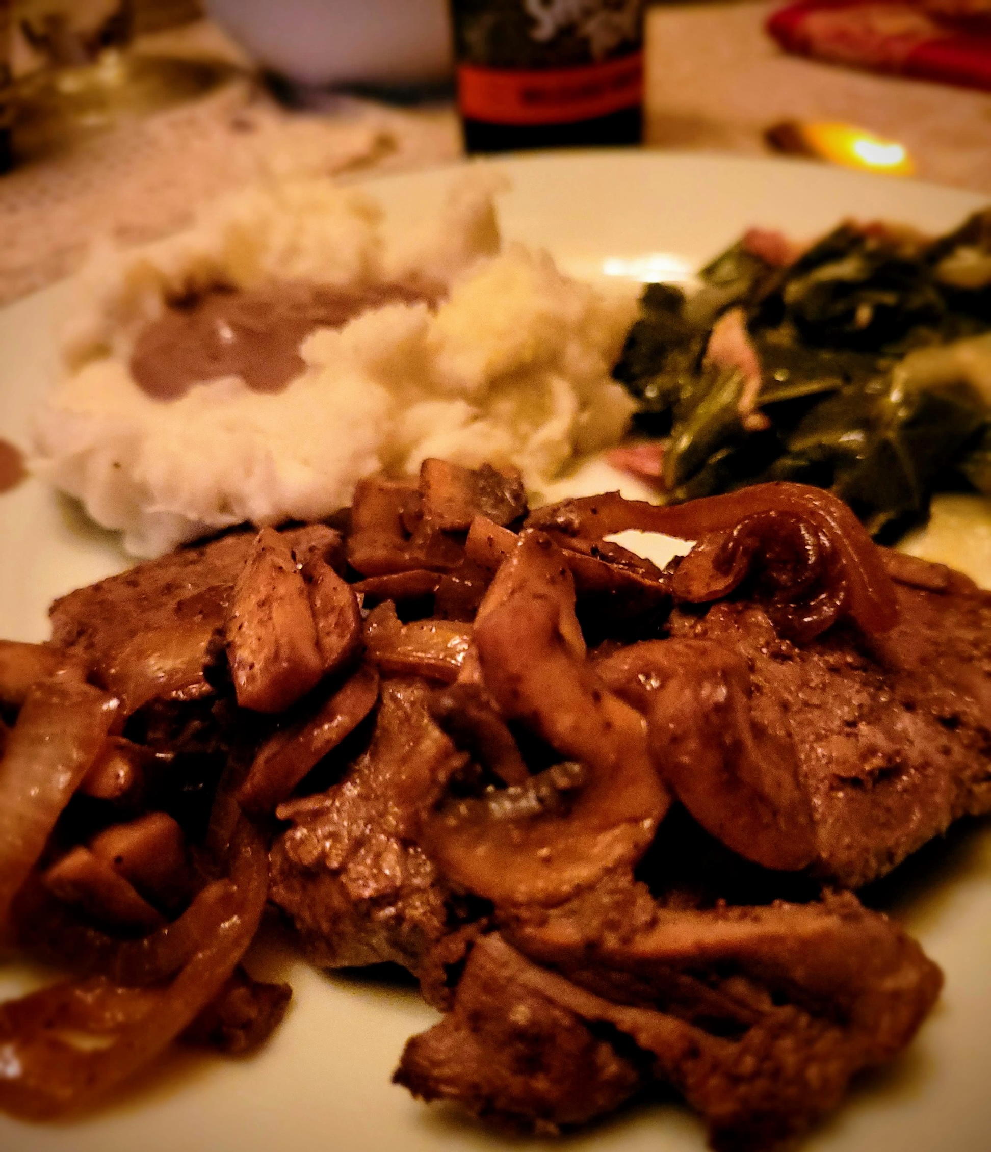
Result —
[[[622, 434], [633, 402], [610, 369], [631, 295], [606, 295], [551, 258], [502, 245], [491, 179], [475, 172], [419, 232], [389, 240], [365, 194], [323, 180], [259, 185], [192, 230], [98, 253], [63, 342], [65, 378], [37, 418], [36, 471], [80, 499], [135, 555], [242, 521], [325, 516], [355, 482], [426, 456], [514, 464], [539, 491]], [[168, 301], [215, 285], [402, 282], [440, 303], [392, 303], [301, 344], [280, 393], [236, 376], [153, 399], [129, 370]]]

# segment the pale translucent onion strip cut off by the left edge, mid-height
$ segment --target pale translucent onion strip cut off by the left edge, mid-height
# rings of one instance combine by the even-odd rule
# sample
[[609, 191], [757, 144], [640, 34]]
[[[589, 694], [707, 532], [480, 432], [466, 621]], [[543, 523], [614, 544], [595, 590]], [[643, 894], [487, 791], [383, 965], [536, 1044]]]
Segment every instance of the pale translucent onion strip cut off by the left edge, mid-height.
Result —
[[28, 690], [0, 760], [0, 924], [100, 751], [119, 705], [74, 680], [41, 680]]

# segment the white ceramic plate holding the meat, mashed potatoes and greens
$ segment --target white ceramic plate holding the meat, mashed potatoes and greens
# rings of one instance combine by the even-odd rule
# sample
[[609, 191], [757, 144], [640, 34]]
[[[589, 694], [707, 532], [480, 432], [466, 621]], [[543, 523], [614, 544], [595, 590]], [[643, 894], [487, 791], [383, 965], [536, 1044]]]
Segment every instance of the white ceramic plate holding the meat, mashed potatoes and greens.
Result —
[[[944, 230], [983, 206], [974, 195], [803, 162], [649, 152], [507, 159], [507, 237], [544, 244], [572, 272], [671, 279], [751, 225], [811, 237], [846, 215]], [[402, 226], [429, 213], [452, 172], [370, 184]], [[53, 370], [52, 329], [67, 286], [0, 313], [0, 435], [27, 444], [28, 414]], [[967, 543], [962, 541], [962, 547]], [[116, 540], [86, 525], [37, 482], [0, 495], [0, 636], [47, 635], [62, 592], [126, 566]], [[991, 828], [955, 829], [888, 885], [902, 917], [946, 972], [946, 991], [918, 1040], [861, 1081], [802, 1145], [807, 1152], [986, 1152], [991, 1146]], [[907, 873], [907, 874], [906, 874]], [[279, 940], [256, 947], [256, 975], [288, 979], [294, 1000], [271, 1044], [247, 1060], [180, 1055], [119, 1100], [71, 1124], [0, 1117], [6, 1152], [469, 1152], [532, 1149], [446, 1107], [416, 1104], [389, 1077], [403, 1041], [436, 1018], [414, 988], [308, 969]], [[17, 973], [0, 983], [12, 994]], [[665, 1102], [622, 1112], [558, 1147], [568, 1152], [701, 1152], [701, 1123]]]

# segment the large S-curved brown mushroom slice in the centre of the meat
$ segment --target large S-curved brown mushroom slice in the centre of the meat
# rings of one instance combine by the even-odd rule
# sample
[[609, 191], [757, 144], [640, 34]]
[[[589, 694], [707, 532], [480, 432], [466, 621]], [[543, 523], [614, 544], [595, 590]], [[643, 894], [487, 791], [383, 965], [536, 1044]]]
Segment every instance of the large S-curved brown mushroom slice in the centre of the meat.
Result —
[[498, 818], [492, 804], [442, 808], [424, 817], [422, 834], [447, 876], [497, 903], [554, 904], [635, 862], [667, 809], [643, 718], [575, 651], [566, 637], [577, 631], [560, 550], [524, 533], [478, 614], [485, 683], [504, 715], [581, 761], [583, 779], [557, 789], [568, 794], [562, 803], [524, 804], [519, 818], [519, 809]]

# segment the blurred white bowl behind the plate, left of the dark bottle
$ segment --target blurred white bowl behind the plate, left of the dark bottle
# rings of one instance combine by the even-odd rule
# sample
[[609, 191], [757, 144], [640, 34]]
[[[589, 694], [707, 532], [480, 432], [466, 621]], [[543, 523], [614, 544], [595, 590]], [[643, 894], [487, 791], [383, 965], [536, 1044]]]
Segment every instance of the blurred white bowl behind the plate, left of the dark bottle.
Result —
[[302, 84], [418, 84], [451, 74], [447, 0], [206, 0], [266, 68]]

